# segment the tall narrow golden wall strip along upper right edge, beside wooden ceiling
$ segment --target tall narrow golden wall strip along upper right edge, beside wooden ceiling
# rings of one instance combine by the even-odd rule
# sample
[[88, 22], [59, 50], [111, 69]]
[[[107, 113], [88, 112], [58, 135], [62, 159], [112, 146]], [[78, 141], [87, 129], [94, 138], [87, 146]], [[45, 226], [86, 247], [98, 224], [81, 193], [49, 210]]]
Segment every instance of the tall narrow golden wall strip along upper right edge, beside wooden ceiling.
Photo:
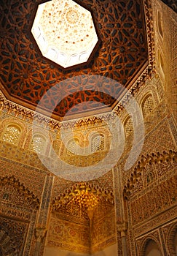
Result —
[[[173, 1], [164, 1], [175, 7]], [[156, 51], [156, 66], [162, 79], [165, 97], [170, 111], [176, 121], [176, 31], [177, 14], [170, 10], [162, 1], [153, 1], [154, 12], [154, 38]]]

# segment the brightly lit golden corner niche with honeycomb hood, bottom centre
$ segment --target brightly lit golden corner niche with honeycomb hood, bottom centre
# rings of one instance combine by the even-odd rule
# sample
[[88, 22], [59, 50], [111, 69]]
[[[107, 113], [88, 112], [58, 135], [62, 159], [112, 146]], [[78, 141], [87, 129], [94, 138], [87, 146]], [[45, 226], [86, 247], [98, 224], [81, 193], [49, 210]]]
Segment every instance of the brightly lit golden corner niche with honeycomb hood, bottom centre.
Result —
[[[61, 249], [82, 252], [83, 242], [84, 246], [87, 245], [84, 252], [95, 252], [115, 244], [114, 195], [109, 189], [103, 189], [98, 185], [94, 187], [90, 182], [73, 184], [70, 189], [55, 197], [51, 206], [50, 230], [55, 229], [52, 224], [54, 219], [55, 222], [70, 223], [68, 225], [71, 225], [74, 230], [72, 238], [74, 240], [60, 238], [61, 243], [58, 244], [56, 241], [59, 238], [56, 236], [56, 231], [53, 233], [50, 231], [47, 238], [48, 246], [60, 246]], [[68, 225], [62, 227], [63, 237], [69, 236]], [[87, 236], [84, 236], [84, 239], [87, 241], [80, 241], [78, 238], [83, 237], [85, 226], [87, 227], [87, 232], [85, 231]]]

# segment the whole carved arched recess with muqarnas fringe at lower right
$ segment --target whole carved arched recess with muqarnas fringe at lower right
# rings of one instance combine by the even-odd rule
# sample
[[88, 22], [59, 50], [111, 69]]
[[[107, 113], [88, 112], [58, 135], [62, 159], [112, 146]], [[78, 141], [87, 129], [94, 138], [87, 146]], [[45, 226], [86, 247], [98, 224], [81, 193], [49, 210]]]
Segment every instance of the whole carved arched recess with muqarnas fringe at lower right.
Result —
[[[136, 251], [136, 248], [139, 248], [139, 244], [143, 244], [141, 241], [146, 241], [148, 234], [157, 227], [160, 248], [162, 252], [168, 252], [169, 233], [165, 225], [176, 219], [176, 181], [174, 151], [146, 155], [138, 162], [138, 167], [135, 167], [124, 190], [129, 223], [127, 232], [128, 237], [131, 237], [129, 241], [132, 255], [143, 255], [145, 247], [140, 251]], [[132, 240], [133, 237], [135, 241]]]

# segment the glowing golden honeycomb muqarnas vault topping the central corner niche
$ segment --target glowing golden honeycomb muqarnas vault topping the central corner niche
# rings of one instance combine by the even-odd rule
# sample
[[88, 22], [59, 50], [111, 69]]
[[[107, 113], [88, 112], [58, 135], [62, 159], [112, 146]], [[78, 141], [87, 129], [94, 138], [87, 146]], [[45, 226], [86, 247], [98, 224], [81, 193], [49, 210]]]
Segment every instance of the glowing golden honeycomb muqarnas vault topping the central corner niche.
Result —
[[92, 219], [98, 209], [100, 210], [98, 215], [101, 216], [101, 208], [105, 203], [105, 212], [110, 211], [110, 208], [114, 206], [114, 194], [111, 190], [102, 189], [98, 185], [95, 187], [93, 184], [79, 183], [66, 189], [63, 194], [52, 200], [52, 211], [60, 212], [64, 209], [65, 214], [72, 215], [73, 208], [76, 207], [79, 208], [78, 217], [86, 213], [87, 217]]

